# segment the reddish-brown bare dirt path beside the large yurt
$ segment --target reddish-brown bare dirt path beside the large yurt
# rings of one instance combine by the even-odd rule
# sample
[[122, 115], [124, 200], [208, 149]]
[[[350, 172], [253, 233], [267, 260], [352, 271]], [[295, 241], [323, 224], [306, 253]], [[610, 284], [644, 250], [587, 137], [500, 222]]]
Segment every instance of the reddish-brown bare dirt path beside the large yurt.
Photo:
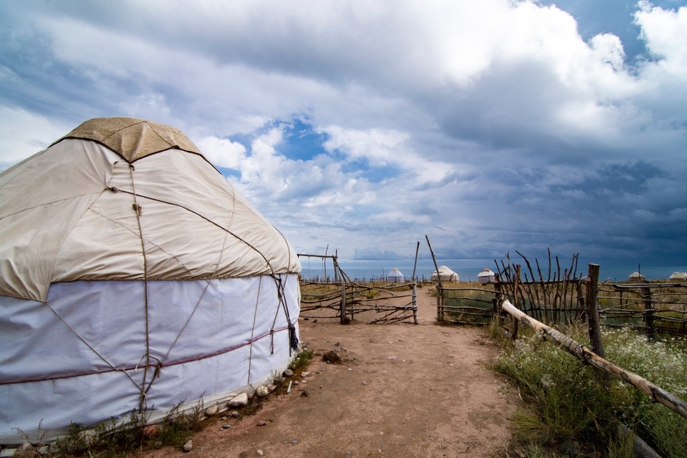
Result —
[[[301, 340], [315, 356], [291, 393], [269, 396], [255, 415], [205, 420], [188, 453], [136, 456], [506, 456], [517, 393], [488, 368], [496, 345], [480, 328], [436, 325], [429, 288], [418, 290], [418, 318], [418, 325], [300, 319]], [[323, 360], [332, 350], [343, 364]]]

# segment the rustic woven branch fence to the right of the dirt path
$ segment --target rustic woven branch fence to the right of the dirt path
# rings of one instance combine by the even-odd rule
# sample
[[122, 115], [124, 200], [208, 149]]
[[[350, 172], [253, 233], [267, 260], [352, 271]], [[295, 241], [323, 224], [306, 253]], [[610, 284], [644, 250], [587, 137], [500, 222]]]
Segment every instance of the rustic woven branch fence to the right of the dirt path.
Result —
[[[503, 294], [517, 303], [519, 310], [543, 323], [589, 321], [588, 277], [517, 283], [514, 275], [506, 273], [479, 288], [464, 283], [436, 285], [437, 320], [488, 325], [497, 316], [496, 298]], [[601, 325], [629, 327], [649, 336], [687, 337], [687, 283], [599, 283], [596, 301]]]

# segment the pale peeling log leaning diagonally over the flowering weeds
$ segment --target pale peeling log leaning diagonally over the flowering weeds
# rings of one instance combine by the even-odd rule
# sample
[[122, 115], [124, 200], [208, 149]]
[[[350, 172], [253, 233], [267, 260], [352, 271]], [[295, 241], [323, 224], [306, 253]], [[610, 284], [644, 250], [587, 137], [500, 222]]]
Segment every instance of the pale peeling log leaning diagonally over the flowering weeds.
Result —
[[578, 343], [572, 339], [572, 337], [566, 336], [562, 332], [559, 332], [554, 328], [550, 328], [534, 318], [528, 317], [526, 314], [515, 308], [513, 304], [510, 304], [508, 299], [502, 298], [499, 304], [504, 312], [510, 313], [513, 315], [513, 317], [515, 317], [515, 319], [517, 319], [517, 321], [532, 328], [534, 331], [539, 332], [544, 339], [548, 339], [558, 344], [559, 347], [563, 348], [563, 350], [572, 354], [583, 363], [592, 367], [596, 367], [596, 369], [600, 369], [607, 374], [611, 374], [611, 376], [620, 378], [620, 380], [623, 380], [624, 382], [633, 385], [641, 391], [644, 391], [644, 393], [646, 393], [646, 395], [648, 395], [653, 402], [660, 402], [664, 406], [668, 407], [668, 409], [671, 409], [675, 413], [679, 413], [679, 415], [687, 418], [687, 402], [684, 402], [682, 399], [678, 398], [672, 393], [668, 393], [668, 391], [662, 389], [661, 387], [657, 387], [652, 382], [649, 382], [649, 380], [646, 380], [646, 378], [640, 377], [637, 374], [633, 374], [632, 372], [622, 369], [622, 367], [618, 367], [604, 358], [601, 358], [598, 356], [598, 354], [592, 352], [592, 350], [589, 350], [581, 343]]

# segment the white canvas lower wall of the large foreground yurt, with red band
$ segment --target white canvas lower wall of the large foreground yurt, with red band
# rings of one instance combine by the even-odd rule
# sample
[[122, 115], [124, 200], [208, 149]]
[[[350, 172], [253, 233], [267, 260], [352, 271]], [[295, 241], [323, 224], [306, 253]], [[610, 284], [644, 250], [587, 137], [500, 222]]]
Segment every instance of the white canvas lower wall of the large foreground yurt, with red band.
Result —
[[[150, 361], [162, 361], [148, 409], [226, 401], [289, 365], [300, 290], [296, 274], [278, 278], [288, 319], [270, 276], [148, 282]], [[144, 385], [145, 290], [77, 281], [52, 284], [47, 304], [0, 297], [0, 444], [23, 442], [14, 428], [31, 433], [41, 420], [54, 437], [139, 407], [155, 369]]]

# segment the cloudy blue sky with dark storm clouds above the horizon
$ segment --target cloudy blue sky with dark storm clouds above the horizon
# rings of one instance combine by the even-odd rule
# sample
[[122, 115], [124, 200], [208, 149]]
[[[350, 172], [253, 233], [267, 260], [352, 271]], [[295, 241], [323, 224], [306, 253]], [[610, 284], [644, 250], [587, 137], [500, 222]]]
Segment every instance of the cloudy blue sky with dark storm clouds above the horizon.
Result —
[[687, 267], [686, 3], [4, 0], [0, 170], [139, 117], [298, 253]]

